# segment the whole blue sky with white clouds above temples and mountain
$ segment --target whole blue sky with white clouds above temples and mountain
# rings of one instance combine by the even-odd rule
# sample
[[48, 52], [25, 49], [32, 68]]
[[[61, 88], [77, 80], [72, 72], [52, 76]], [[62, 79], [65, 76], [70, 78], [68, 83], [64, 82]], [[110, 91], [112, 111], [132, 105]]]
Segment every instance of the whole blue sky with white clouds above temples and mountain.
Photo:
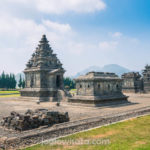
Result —
[[46, 34], [74, 75], [89, 67], [150, 64], [149, 0], [0, 1], [0, 72], [18, 73]]

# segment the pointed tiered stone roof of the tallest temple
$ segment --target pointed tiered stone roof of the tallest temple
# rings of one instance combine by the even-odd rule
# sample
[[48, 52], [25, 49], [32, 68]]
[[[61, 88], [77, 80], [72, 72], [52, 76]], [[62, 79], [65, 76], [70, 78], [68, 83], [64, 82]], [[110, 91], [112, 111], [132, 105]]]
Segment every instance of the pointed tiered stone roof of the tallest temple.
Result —
[[32, 54], [31, 59], [28, 61], [25, 70], [30, 69], [63, 69], [62, 64], [57, 58], [56, 54], [53, 54], [53, 50], [49, 45], [49, 41], [46, 35], [43, 35], [39, 41], [38, 47]]

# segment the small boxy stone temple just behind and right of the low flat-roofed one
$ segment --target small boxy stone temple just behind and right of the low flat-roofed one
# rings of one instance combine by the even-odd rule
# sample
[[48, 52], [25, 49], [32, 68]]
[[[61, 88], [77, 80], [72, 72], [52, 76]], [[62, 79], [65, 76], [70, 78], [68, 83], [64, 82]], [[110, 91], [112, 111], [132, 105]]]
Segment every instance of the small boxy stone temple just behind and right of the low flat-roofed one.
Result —
[[122, 90], [127, 93], [143, 91], [143, 79], [139, 72], [129, 72], [122, 75]]

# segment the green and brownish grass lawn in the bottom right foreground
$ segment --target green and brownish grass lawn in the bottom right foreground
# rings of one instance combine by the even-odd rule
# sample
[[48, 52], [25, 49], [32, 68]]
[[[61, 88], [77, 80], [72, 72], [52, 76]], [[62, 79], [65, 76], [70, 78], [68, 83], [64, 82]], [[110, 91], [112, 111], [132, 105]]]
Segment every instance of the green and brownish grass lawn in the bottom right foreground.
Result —
[[59, 140], [109, 140], [110, 144], [44, 144], [26, 150], [150, 150], [150, 116], [80, 132]]

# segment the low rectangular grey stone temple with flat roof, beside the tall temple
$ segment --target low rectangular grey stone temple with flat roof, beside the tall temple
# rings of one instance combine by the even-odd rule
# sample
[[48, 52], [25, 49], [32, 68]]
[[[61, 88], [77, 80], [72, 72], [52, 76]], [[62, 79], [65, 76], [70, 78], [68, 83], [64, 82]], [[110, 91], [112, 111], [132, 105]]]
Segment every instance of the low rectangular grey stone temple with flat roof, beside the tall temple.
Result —
[[99, 104], [127, 100], [122, 93], [122, 79], [114, 73], [89, 72], [75, 81], [77, 95], [69, 98], [69, 102]]

